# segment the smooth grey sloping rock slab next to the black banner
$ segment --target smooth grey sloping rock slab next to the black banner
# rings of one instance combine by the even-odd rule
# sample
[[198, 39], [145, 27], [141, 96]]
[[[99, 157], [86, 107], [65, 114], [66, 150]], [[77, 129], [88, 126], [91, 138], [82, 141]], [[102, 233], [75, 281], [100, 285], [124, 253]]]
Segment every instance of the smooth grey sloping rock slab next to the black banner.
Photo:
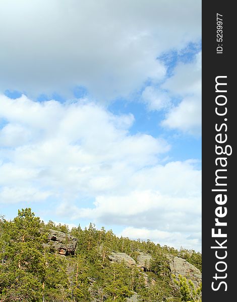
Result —
[[202, 274], [198, 268], [185, 259], [179, 257], [168, 255], [167, 258], [169, 260], [171, 274], [174, 274], [176, 277], [180, 274], [187, 279], [192, 280], [194, 285], [199, 286], [202, 282]]

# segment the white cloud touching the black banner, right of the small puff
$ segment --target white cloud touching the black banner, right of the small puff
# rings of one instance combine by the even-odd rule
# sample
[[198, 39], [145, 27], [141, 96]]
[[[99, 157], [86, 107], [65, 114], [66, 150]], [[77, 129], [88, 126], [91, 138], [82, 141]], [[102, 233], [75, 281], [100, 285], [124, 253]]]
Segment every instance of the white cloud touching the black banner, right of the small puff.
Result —
[[180, 63], [174, 75], [162, 86], [170, 95], [182, 97], [182, 101], [167, 113], [162, 125], [193, 135], [201, 134], [201, 52], [192, 63]]

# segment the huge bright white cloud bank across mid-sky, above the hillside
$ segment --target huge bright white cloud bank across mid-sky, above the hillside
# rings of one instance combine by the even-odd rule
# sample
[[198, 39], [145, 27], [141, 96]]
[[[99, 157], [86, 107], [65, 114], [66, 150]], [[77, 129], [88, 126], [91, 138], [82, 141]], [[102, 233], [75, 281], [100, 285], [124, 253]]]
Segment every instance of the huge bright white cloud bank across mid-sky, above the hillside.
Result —
[[85, 218], [170, 238], [178, 232], [190, 245], [198, 240], [201, 171], [194, 160], [162, 164], [170, 146], [131, 135], [132, 114], [114, 115], [88, 100], [37, 103], [26, 96], [2, 95], [0, 106], [2, 203], [50, 198], [57, 221]]

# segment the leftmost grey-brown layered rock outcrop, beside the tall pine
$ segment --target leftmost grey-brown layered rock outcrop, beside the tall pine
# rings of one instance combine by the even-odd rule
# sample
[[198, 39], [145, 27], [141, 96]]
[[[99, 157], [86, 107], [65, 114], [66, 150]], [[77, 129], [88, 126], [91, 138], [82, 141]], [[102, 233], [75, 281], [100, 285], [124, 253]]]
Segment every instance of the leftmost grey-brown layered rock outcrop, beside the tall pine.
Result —
[[63, 232], [49, 230], [48, 242], [44, 245], [55, 249], [58, 254], [69, 256], [74, 255], [77, 246], [77, 238]]

